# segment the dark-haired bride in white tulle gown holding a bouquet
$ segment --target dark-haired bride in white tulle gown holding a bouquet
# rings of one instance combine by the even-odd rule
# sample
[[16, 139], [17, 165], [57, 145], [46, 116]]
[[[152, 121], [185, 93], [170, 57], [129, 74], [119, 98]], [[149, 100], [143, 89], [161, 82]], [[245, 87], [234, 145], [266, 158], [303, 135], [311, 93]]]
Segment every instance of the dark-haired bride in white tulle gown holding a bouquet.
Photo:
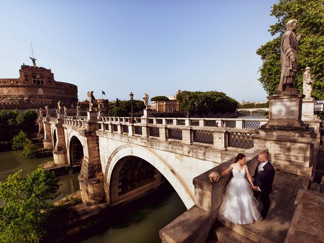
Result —
[[261, 221], [262, 217], [258, 211], [258, 201], [253, 196], [251, 186], [245, 179], [245, 175], [253, 185], [248, 167], [245, 165], [246, 156], [237, 154], [234, 164], [231, 164], [220, 177], [232, 170], [233, 178], [225, 188], [222, 205], [219, 209], [219, 216], [227, 219], [233, 224], [252, 224]]

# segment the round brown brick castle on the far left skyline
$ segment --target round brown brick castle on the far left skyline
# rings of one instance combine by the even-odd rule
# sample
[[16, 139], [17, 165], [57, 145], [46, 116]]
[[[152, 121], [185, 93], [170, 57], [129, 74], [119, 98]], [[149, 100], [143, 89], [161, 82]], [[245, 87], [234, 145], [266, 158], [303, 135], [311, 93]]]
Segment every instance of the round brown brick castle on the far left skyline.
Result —
[[[34, 61], [33, 61], [34, 62]], [[57, 82], [51, 69], [22, 65], [18, 78], [0, 78], [0, 108], [25, 110], [56, 107], [58, 101], [70, 107], [77, 102], [77, 86]]]

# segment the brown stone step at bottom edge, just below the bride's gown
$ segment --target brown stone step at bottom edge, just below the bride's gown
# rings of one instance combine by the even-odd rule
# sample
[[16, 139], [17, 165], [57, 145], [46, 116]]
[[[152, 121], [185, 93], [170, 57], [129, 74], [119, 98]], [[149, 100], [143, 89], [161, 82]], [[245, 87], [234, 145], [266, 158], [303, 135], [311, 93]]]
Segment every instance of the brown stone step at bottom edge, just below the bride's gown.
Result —
[[219, 227], [215, 230], [215, 235], [218, 239], [217, 242], [222, 243], [255, 243], [255, 241], [230, 230], [227, 227]]

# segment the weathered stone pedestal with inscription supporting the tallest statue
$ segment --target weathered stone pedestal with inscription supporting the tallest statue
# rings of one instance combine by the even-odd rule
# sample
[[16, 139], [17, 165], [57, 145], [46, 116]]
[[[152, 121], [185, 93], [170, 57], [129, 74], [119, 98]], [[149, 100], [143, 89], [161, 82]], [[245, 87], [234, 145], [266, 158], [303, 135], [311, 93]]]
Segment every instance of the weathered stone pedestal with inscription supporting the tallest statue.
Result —
[[303, 98], [288, 92], [268, 97], [269, 122], [253, 138], [254, 146], [268, 148], [277, 171], [311, 178], [316, 134], [301, 119]]

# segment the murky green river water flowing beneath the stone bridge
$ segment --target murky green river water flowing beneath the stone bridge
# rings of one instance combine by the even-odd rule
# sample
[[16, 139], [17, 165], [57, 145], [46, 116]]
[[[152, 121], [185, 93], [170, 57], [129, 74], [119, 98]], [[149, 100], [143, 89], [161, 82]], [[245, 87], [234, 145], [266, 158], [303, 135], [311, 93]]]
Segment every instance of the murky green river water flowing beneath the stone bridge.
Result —
[[[20, 156], [20, 150], [0, 153], [0, 181], [20, 169], [23, 175], [30, 174], [38, 165], [53, 161], [53, 157], [29, 159]], [[60, 177], [61, 194], [55, 199], [64, 198], [77, 190], [78, 173]], [[155, 194], [154, 194], [155, 193]], [[90, 233], [78, 235], [68, 242], [123, 242], [123, 243], [154, 243], [161, 242], [158, 236], [159, 229], [163, 228], [183, 212], [186, 211], [178, 194], [167, 185], [151, 195], [145, 196], [136, 202], [116, 210], [105, 223], [101, 223]]]

